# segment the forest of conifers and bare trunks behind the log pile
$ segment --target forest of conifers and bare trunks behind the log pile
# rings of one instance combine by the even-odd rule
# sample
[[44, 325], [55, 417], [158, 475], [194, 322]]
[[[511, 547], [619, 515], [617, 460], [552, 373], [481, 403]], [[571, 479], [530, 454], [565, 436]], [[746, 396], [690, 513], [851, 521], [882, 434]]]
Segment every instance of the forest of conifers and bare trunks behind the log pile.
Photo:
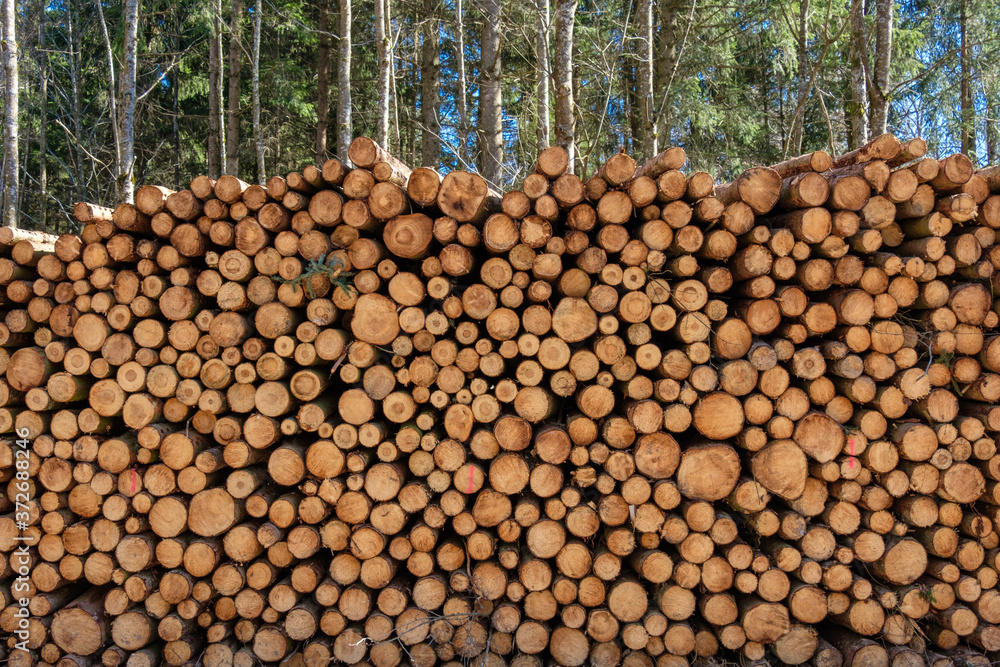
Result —
[[[550, 5], [550, 2], [553, 3]], [[201, 173], [249, 182], [367, 135], [520, 184], [682, 146], [725, 179], [886, 130], [1000, 161], [992, 0], [2, 0], [4, 224]]]

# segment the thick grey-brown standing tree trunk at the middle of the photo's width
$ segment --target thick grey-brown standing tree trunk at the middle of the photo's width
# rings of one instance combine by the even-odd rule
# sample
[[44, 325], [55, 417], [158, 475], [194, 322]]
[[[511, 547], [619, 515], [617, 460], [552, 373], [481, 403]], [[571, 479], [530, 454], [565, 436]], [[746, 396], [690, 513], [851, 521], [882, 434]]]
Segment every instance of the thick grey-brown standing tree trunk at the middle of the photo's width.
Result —
[[494, 187], [503, 174], [502, 93], [500, 90], [500, 0], [483, 2], [479, 64], [479, 171]]

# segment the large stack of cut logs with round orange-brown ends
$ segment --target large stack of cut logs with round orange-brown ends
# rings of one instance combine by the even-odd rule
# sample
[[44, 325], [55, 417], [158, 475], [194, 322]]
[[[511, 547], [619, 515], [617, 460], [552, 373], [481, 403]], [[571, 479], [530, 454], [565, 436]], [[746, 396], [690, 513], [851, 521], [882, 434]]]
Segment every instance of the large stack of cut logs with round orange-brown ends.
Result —
[[1000, 168], [925, 150], [361, 138], [2, 230], [0, 658], [988, 664]]

